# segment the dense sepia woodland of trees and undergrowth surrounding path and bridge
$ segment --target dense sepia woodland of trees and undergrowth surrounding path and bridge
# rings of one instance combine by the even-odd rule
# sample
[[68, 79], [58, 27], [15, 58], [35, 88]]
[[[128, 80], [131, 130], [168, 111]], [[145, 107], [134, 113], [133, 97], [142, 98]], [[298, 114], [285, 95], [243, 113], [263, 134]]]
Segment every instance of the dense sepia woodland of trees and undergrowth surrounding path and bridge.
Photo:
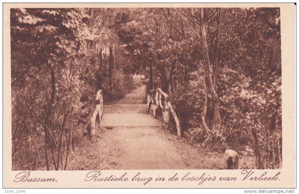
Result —
[[282, 167], [279, 8], [11, 9], [10, 25], [13, 170], [67, 170], [97, 90], [142, 84], [190, 144]]

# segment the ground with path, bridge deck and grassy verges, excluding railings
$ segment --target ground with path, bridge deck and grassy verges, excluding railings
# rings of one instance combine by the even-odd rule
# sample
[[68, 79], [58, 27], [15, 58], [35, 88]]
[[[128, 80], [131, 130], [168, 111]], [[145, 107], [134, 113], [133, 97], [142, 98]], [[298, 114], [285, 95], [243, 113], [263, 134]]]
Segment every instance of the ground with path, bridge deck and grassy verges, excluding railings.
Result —
[[[114, 115], [106, 118], [105, 122], [109, 122], [109, 125], [114, 123], [115, 127], [98, 128], [97, 136], [91, 140], [83, 137], [85, 138], [83, 143], [77, 146], [70, 158], [68, 170], [222, 169], [224, 167], [222, 154], [204, 152], [190, 145], [186, 139], [166, 131], [163, 125], [158, 126], [158, 120], [152, 123], [153, 117], [146, 114], [146, 105], [142, 104], [144, 96], [145, 86], [142, 86], [118, 102], [105, 105], [103, 121], [105, 115]], [[117, 116], [120, 118], [116, 118]], [[128, 117], [133, 117], [130, 118], [130, 123], [134, 124], [126, 123]], [[114, 118], [118, 121], [113, 120]], [[121, 124], [118, 125], [117, 122]], [[140, 123], [145, 124], [141, 126]], [[241, 158], [239, 167], [246, 168], [242, 166], [243, 163]]]

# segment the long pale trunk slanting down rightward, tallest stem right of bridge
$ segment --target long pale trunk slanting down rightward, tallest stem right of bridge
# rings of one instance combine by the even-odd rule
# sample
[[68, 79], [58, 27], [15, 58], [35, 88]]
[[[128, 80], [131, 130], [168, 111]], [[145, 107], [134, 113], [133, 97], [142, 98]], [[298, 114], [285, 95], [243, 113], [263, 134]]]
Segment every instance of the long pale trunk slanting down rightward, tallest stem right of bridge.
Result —
[[213, 108], [214, 108], [214, 118], [213, 118], [213, 131], [216, 133], [217, 136], [220, 135], [220, 128], [221, 128], [221, 118], [219, 113], [219, 97], [214, 87], [213, 82], [213, 69], [211, 71], [211, 64], [210, 58], [208, 53], [208, 44], [207, 44], [207, 34], [206, 34], [206, 27], [203, 21], [204, 18], [204, 9], [200, 8], [200, 30], [201, 30], [201, 38], [202, 38], [202, 54], [204, 57], [204, 67], [205, 67], [205, 75], [208, 77], [208, 87], [212, 96], [213, 100]]

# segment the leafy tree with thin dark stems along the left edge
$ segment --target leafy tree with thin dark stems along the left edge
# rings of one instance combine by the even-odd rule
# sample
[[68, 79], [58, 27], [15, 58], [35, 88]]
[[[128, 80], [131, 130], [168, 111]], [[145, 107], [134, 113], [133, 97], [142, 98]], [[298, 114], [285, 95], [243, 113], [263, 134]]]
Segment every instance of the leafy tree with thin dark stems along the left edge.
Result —
[[[13, 154], [22, 146], [24, 135], [38, 139], [43, 129], [47, 170], [49, 150], [55, 170], [62, 167], [64, 135], [71, 130], [71, 125], [65, 129], [65, 123], [70, 121], [74, 103], [70, 97], [74, 92], [73, 59], [82, 56], [83, 41], [94, 38], [83, 22], [88, 17], [84, 9], [12, 9], [10, 13]], [[30, 103], [25, 108], [18, 101], [26, 98]], [[19, 117], [24, 118], [22, 123], [14, 122]]]

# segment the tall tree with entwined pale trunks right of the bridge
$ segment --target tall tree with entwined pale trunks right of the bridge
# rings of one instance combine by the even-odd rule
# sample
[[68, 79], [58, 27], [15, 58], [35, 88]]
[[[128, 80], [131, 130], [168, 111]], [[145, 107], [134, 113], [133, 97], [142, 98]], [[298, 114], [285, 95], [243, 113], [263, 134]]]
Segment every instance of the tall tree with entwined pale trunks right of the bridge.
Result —
[[[208, 13], [211, 13], [209, 16]], [[219, 97], [216, 90], [216, 82], [219, 71], [219, 37], [221, 34], [221, 8], [216, 10], [207, 10], [205, 8], [194, 10], [191, 9], [191, 13], [183, 12], [186, 17], [189, 18], [190, 22], [194, 23], [193, 31], [196, 33], [199, 41], [202, 45], [202, 56], [203, 56], [203, 67], [205, 71], [205, 76], [203, 77], [203, 85], [205, 91], [205, 103], [202, 111], [202, 124], [207, 131], [209, 127], [205, 121], [207, 108], [208, 108], [208, 93], [211, 94], [212, 104], [213, 104], [213, 128], [212, 131], [216, 133], [217, 136], [220, 135], [221, 131], [221, 117], [219, 113]], [[190, 16], [189, 16], [190, 15]], [[216, 19], [214, 19], [216, 17]], [[207, 30], [206, 25], [209, 26], [209, 22], [215, 20], [217, 23], [216, 32], [213, 38], [210, 32], [210, 27], [208, 27], [210, 35], [210, 47], [208, 46], [207, 40]], [[200, 27], [199, 27], [200, 26]], [[213, 39], [212, 39], [213, 38]], [[213, 44], [214, 42], [214, 44]], [[212, 50], [212, 52], [211, 52]]]

